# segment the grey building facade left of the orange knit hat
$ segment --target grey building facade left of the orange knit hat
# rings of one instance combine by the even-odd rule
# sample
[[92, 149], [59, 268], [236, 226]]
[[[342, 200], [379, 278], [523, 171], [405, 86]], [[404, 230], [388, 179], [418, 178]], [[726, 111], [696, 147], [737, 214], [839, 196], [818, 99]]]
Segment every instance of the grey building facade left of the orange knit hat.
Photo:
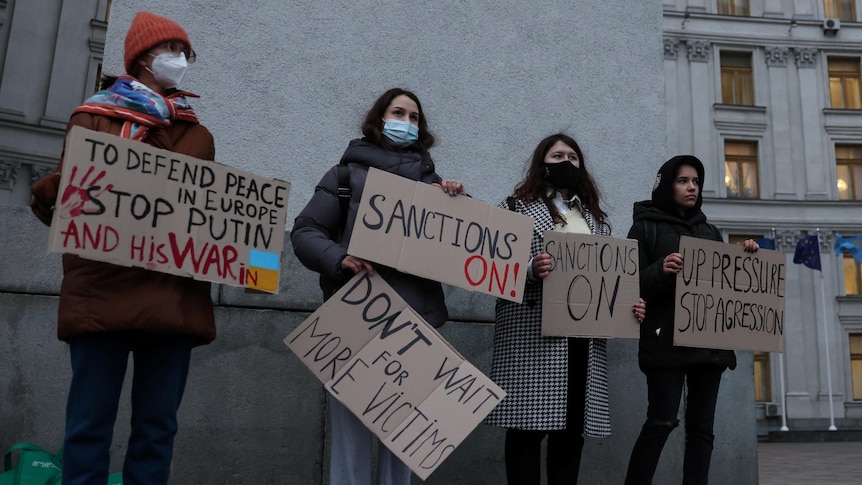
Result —
[[57, 164], [69, 115], [96, 89], [109, 9], [0, 0], [0, 204], [26, 204]]

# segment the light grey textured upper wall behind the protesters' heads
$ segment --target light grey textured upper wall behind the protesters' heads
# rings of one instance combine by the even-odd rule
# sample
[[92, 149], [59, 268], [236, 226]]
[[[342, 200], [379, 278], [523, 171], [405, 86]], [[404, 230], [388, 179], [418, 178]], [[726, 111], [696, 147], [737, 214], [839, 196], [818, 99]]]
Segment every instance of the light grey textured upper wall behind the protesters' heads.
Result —
[[532, 149], [581, 144], [617, 233], [665, 156], [658, 1], [114, 2], [103, 72], [122, 72], [139, 10], [179, 21], [198, 53], [182, 87], [216, 158], [292, 183], [288, 230], [366, 111], [401, 86], [437, 135], [438, 171], [497, 203]]

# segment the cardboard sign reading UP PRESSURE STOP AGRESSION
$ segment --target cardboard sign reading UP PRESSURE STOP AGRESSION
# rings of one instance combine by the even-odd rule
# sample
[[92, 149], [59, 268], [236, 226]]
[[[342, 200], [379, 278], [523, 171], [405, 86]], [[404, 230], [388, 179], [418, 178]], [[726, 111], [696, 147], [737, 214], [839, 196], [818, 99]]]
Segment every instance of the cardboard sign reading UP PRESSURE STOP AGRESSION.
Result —
[[679, 253], [674, 345], [784, 352], [784, 253], [688, 236]]

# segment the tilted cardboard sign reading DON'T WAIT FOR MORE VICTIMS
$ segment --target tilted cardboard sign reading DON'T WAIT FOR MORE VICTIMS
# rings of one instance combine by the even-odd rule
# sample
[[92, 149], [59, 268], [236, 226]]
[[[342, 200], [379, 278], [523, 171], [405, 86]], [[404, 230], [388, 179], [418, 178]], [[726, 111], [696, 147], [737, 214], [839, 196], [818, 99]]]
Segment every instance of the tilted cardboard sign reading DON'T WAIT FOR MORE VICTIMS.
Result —
[[377, 274], [354, 276], [284, 343], [422, 479], [506, 395]]

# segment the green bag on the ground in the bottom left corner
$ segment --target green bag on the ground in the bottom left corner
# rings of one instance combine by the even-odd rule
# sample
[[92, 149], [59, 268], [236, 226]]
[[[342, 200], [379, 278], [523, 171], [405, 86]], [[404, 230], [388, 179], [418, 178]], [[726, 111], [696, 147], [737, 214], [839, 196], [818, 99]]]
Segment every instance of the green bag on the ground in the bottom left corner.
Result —
[[[18, 462], [12, 466], [17, 452]], [[54, 456], [41, 446], [18, 443], [9, 448], [3, 457], [0, 485], [60, 485], [63, 467], [62, 454]]]

